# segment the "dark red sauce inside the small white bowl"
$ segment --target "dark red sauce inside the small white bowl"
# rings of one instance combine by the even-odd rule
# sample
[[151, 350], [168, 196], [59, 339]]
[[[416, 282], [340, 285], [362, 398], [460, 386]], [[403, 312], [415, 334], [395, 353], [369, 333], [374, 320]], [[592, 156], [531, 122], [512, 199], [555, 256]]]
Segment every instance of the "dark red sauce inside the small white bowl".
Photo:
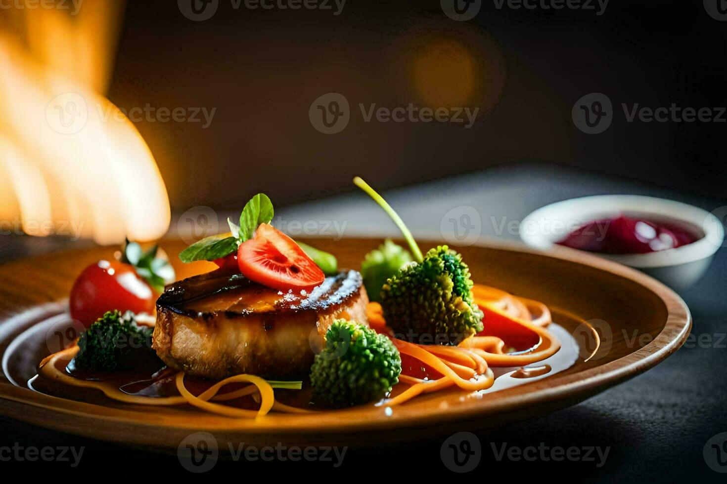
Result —
[[601, 254], [646, 254], [699, 239], [694, 232], [672, 223], [621, 215], [585, 223], [558, 244]]

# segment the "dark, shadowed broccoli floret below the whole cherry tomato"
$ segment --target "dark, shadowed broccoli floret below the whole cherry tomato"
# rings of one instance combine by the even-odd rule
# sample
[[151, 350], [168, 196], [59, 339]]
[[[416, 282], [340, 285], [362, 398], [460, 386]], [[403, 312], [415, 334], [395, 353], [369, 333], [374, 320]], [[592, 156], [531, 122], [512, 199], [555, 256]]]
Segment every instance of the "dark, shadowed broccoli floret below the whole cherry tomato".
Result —
[[79, 353], [72, 369], [119, 372], [164, 366], [151, 348], [154, 329], [137, 325], [130, 313], [108, 311], [79, 338]]

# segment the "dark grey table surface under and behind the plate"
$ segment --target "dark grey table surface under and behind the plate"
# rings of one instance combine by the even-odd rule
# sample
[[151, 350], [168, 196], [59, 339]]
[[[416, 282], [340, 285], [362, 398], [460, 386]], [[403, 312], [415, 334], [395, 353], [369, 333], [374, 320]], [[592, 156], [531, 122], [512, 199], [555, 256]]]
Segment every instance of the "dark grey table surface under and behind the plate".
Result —
[[[657, 186], [604, 179], [589, 173], [542, 165], [515, 165], [399, 189], [388, 193], [387, 199], [418, 237], [441, 237], [439, 226], [443, 216], [450, 210], [465, 206], [475, 208], [480, 214], [483, 237], [515, 238], [516, 234], [496, 234], [502, 217], [518, 221], [531, 210], [550, 202], [609, 193], [667, 197], [707, 210], [727, 205], [696, 194], [671, 192]], [[353, 192], [335, 199], [286, 208], [278, 216], [287, 221], [338, 221], [339, 228], [345, 227], [345, 236], [396, 234], [379, 209], [361, 194]], [[491, 217], [495, 217], [494, 223]], [[40, 246], [29, 245], [25, 237], [6, 237], [2, 241], [0, 258], [9, 260], [62, 246], [62, 242], [50, 241]], [[494, 430], [475, 432], [481, 443], [481, 462], [470, 476], [481, 473], [483, 480], [493, 475], [517, 480], [545, 472], [554, 478], [564, 476], [594, 482], [679, 482], [688, 479], [724, 482], [725, 475], [708, 467], [703, 451], [712, 436], [727, 432], [726, 264], [726, 251], [720, 250], [704, 279], [680, 294], [694, 318], [694, 339], [690, 338], [691, 343], [645, 374], [569, 409]], [[24, 448], [84, 447], [77, 469], [100, 466], [126, 476], [133, 475], [134, 469], [143, 469], [143, 472], [151, 474], [163, 472], [169, 476], [191, 476], [182, 468], [176, 454], [156, 454], [148, 449], [88, 440], [4, 417], [0, 417], [0, 432], [0, 469], [17, 467], [28, 472], [40, 469], [63, 472], [63, 469], [71, 467], [71, 462], [19, 462], [17, 459], [7, 462], [3, 459], [3, 446], [12, 447], [17, 443]], [[238, 478], [252, 479], [259, 478], [257, 472], [270, 472], [271, 476], [277, 477], [287, 473], [341, 469], [350, 472], [345, 475], [364, 479], [371, 475], [372, 478], [386, 480], [399, 472], [411, 475], [417, 470], [433, 475], [449, 472], [440, 457], [445, 438], [446, 435], [406, 444], [382, 442], [375, 448], [350, 448], [338, 469], [332, 462], [235, 462], [220, 459], [204, 477], [217, 477], [220, 472], [245, 471]], [[538, 451], [537, 459], [532, 461], [513, 460], [507, 456], [498, 459], [503, 445], [507, 448], [534, 446], [547, 450]], [[567, 449], [571, 446], [581, 448], [582, 452], [590, 447], [601, 448], [601, 452], [608, 448], [608, 454], [602, 465], [596, 451], [592, 454], [595, 456], [593, 462], [571, 459], [556, 462], [548, 458], [553, 448]], [[709, 452], [714, 454], [716, 451], [710, 449]], [[721, 470], [727, 472], [727, 446], [721, 456], [726, 462]], [[248, 473], [250, 471], [253, 473]], [[449, 475], [454, 477], [454, 474]]]

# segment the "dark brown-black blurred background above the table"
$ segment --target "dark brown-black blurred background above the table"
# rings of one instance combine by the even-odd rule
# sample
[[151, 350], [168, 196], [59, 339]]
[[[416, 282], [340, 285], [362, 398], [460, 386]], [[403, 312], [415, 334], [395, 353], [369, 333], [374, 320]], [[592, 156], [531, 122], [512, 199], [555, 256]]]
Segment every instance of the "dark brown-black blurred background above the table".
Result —
[[[467, 22], [438, 0], [348, 0], [338, 16], [220, 0], [202, 22], [174, 0], [130, 0], [109, 97], [126, 109], [217, 108], [206, 129], [137, 123], [178, 212], [238, 208], [263, 188], [276, 205], [324, 197], [356, 174], [387, 189], [517, 161], [723, 197], [725, 123], [627, 123], [620, 104], [725, 105], [726, 33], [699, 0], [612, 0], [600, 16], [485, 0]], [[354, 112], [326, 135], [308, 107], [332, 91]], [[603, 134], [571, 121], [590, 92], [616, 110]], [[359, 102], [481, 109], [465, 129], [364, 123]]]

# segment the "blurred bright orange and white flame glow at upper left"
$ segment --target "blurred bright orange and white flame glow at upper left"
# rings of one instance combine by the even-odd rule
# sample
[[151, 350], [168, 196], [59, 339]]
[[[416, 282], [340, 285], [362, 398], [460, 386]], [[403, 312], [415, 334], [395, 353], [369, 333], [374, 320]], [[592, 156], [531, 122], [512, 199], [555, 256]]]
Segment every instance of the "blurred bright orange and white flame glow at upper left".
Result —
[[166, 233], [169, 198], [154, 157], [132, 122], [100, 94], [113, 67], [119, 3], [85, 0], [75, 13], [3, 13], [3, 30], [15, 34], [0, 36], [6, 225], [17, 220], [28, 234], [100, 244]]

